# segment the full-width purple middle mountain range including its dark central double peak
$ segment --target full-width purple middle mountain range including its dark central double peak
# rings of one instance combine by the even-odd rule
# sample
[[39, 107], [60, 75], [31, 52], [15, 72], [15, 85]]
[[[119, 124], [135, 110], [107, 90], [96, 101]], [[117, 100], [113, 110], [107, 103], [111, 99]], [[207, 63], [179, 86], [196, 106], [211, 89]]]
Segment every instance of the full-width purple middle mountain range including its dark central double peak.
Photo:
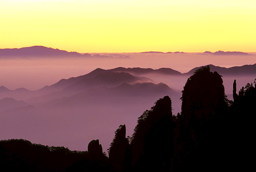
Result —
[[[210, 66], [210, 71], [218, 71], [220, 75], [225, 76], [235, 76], [235, 75], [256, 75], [256, 64], [253, 65], [243, 65], [243, 66], [234, 66], [230, 68], [219, 67], [215, 65]], [[202, 67], [202, 66], [200, 66]], [[117, 67], [109, 70], [104, 70], [101, 68], [97, 68], [94, 71], [77, 76], [71, 77], [69, 79], [61, 79], [59, 82], [45, 86], [41, 89], [31, 91], [25, 88], [18, 88], [15, 90], [9, 90], [4, 86], [0, 86], [1, 96], [0, 98], [12, 97], [17, 100], [27, 100], [32, 97], [44, 96], [46, 94], [51, 94], [54, 91], [65, 91], [65, 95], [70, 95], [72, 93], [77, 93], [79, 91], [83, 91], [84, 89], [90, 89], [95, 87], [116, 87], [122, 83], [127, 84], [135, 84], [135, 83], [145, 83], [145, 82], [154, 82], [152, 79], [145, 76], [153, 76], [153, 75], [167, 75], [167, 76], [180, 76], [187, 78], [188, 75], [193, 75], [193, 73], [199, 69], [200, 67], [195, 67], [191, 69], [187, 73], [180, 73], [171, 68], [124, 68]], [[138, 76], [136, 76], [138, 75]], [[58, 96], [57, 96], [58, 97]]]

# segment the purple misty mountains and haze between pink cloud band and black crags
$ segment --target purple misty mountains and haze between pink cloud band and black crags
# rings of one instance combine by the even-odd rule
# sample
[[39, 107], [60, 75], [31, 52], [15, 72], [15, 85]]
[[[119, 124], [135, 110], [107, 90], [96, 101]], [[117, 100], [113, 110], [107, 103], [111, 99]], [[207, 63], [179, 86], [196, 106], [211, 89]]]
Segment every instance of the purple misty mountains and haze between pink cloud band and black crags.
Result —
[[[209, 65], [209, 68], [210, 71], [220, 71], [220, 75], [230, 74], [231, 79], [245, 74], [244, 71], [255, 78], [255, 65], [231, 68]], [[9, 90], [1, 86], [1, 137], [24, 138], [48, 145], [64, 144], [76, 150], [83, 150], [85, 143], [102, 138], [106, 150], [116, 125], [125, 122], [131, 126], [126, 130], [127, 135], [131, 135], [138, 114], [150, 109], [156, 99], [168, 95], [173, 113], [180, 112], [181, 90], [187, 78], [198, 68], [184, 74], [170, 68], [97, 68], [35, 91], [25, 88]], [[164, 77], [169, 83], [156, 80]], [[172, 87], [177, 85], [175, 78], [184, 79], [179, 89]], [[233, 88], [232, 85], [228, 87]], [[77, 134], [77, 131], [84, 133]], [[77, 143], [72, 144], [73, 147], [70, 138], [72, 143]]]

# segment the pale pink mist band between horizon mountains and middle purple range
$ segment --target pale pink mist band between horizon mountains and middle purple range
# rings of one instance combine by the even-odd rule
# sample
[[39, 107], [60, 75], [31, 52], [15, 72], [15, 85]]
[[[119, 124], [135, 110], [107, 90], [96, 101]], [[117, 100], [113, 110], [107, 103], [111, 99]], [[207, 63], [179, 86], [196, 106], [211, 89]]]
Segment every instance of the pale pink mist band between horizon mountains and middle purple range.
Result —
[[[52, 85], [60, 79], [67, 79], [87, 74], [96, 68], [111, 69], [116, 67], [172, 68], [186, 73], [194, 67], [213, 64], [220, 67], [255, 64], [256, 55], [217, 56], [210, 54], [144, 54], [144, 53], [90, 53], [112, 56], [112, 58], [13, 58], [1, 59], [1, 83], [8, 89], [26, 88], [37, 90]], [[251, 53], [256, 54], [256, 53]], [[118, 57], [129, 56], [129, 59]], [[184, 79], [182, 80], [184, 81]], [[185, 79], [186, 81], [186, 79]], [[172, 81], [169, 81], [172, 82]], [[185, 85], [185, 82], [181, 85]], [[177, 87], [175, 89], [179, 89]]]

